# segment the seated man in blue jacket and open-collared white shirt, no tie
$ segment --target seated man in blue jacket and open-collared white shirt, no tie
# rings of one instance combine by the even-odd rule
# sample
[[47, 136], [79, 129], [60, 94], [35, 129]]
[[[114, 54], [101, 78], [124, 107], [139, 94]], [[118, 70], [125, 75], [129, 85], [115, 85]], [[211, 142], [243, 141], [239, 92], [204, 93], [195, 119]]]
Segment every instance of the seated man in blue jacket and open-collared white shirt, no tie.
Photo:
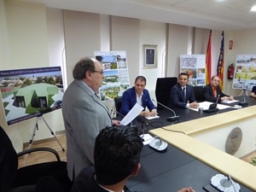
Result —
[[[122, 106], [119, 113], [126, 115], [130, 112], [131, 108], [138, 103], [144, 110], [140, 113], [144, 117], [154, 116], [157, 114], [156, 108], [151, 101], [148, 90], [145, 89], [147, 80], [143, 76], [137, 76], [134, 86], [129, 90], [125, 90], [122, 96]], [[146, 107], [149, 111], [145, 110]]]

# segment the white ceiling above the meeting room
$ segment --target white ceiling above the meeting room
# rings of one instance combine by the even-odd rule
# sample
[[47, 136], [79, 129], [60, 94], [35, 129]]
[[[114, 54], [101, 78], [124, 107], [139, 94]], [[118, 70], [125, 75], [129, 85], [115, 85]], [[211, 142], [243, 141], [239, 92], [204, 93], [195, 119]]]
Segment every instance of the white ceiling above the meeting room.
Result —
[[256, 28], [256, 0], [20, 0], [46, 7], [154, 20], [212, 30]]

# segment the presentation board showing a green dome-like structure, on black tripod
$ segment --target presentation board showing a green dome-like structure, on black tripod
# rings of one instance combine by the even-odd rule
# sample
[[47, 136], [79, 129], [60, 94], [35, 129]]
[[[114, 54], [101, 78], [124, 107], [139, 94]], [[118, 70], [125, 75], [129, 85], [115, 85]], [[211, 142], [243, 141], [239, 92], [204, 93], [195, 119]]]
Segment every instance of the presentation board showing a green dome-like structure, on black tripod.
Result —
[[7, 125], [61, 108], [61, 67], [0, 71], [0, 90]]

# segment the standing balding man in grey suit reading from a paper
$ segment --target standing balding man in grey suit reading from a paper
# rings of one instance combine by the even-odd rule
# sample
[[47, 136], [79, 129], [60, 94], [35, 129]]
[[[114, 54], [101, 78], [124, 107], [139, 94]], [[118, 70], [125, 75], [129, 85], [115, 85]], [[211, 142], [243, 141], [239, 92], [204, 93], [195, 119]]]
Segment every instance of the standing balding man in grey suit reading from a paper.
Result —
[[106, 126], [119, 125], [96, 96], [104, 78], [102, 64], [86, 57], [73, 68], [73, 82], [62, 100], [67, 137], [67, 173], [73, 181], [86, 166], [92, 166], [96, 136]]

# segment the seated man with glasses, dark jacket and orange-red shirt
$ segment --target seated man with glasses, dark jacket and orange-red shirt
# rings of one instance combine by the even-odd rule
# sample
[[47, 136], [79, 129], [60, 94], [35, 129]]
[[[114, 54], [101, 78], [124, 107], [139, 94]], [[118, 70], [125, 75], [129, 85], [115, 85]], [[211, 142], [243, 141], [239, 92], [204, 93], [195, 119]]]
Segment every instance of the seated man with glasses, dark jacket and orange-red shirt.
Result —
[[234, 100], [233, 96], [225, 95], [219, 87], [219, 78], [217, 75], [213, 75], [211, 82], [203, 88], [203, 94], [207, 102], [222, 102], [225, 100]]

